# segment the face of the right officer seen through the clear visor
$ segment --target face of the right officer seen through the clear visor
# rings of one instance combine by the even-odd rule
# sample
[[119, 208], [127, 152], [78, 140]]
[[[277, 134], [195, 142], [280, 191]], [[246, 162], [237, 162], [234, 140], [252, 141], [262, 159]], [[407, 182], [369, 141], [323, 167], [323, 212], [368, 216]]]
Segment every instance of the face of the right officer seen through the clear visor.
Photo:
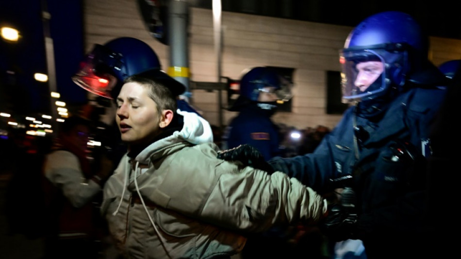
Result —
[[364, 92], [384, 71], [384, 64], [380, 61], [361, 62], [356, 65], [357, 78], [354, 85]]

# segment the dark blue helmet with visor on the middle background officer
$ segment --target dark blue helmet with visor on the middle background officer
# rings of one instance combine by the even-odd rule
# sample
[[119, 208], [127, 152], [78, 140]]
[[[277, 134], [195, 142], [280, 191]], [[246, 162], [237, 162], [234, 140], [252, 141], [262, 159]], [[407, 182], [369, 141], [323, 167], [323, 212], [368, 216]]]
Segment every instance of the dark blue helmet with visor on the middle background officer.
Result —
[[251, 69], [245, 69], [243, 76], [240, 79], [240, 96], [229, 109], [231, 111], [237, 111], [242, 105], [249, 103], [257, 103], [262, 109], [275, 108], [275, 104], [269, 104], [268, 102], [259, 102], [258, 98], [261, 92], [270, 91], [277, 95], [280, 101], [289, 101], [291, 99], [292, 84], [282, 84], [279, 73], [272, 68], [268, 67], [255, 67]]

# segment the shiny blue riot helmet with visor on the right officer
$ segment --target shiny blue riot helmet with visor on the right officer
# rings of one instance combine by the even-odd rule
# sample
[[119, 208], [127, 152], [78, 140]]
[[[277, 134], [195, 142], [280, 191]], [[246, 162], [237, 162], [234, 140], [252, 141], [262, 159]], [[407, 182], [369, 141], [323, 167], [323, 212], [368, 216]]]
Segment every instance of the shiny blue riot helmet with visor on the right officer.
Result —
[[355, 27], [340, 52], [343, 102], [385, 98], [400, 91], [427, 59], [427, 38], [408, 14], [389, 11]]

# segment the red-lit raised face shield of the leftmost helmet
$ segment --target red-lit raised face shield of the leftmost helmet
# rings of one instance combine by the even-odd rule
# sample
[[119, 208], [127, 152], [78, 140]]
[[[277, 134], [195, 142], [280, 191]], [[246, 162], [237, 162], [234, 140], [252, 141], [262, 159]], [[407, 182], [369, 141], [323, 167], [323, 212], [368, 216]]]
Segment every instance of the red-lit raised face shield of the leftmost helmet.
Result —
[[111, 92], [118, 81], [114, 71], [121, 71], [122, 65], [120, 54], [96, 44], [81, 62], [80, 70], [72, 76], [72, 81], [87, 91], [113, 99]]

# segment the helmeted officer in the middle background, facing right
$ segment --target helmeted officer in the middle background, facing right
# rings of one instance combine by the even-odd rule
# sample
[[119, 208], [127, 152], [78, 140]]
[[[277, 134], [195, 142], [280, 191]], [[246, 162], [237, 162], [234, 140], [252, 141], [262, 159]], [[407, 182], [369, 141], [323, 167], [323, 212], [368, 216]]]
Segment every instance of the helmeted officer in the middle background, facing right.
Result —
[[281, 84], [276, 70], [255, 67], [243, 72], [240, 79], [240, 96], [229, 109], [239, 114], [232, 119], [223, 136], [223, 149], [241, 144], [256, 147], [270, 159], [281, 155], [279, 127], [271, 120], [277, 110], [277, 101], [288, 101], [291, 86]]

